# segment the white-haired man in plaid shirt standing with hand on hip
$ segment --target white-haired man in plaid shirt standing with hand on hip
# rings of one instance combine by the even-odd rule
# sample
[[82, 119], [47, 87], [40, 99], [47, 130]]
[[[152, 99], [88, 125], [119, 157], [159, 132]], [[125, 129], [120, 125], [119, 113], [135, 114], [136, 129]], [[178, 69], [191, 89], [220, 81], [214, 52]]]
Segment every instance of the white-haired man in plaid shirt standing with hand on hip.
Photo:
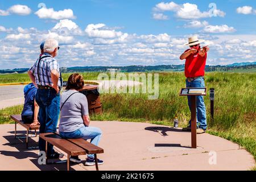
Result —
[[[28, 75], [32, 82], [38, 87], [35, 100], [38, 103], [40, 129], [39, 133], [55, 132], [60, 114], [60, 89], [62, 78], [59, 64], [54, 57], [57, 56], [59, 43], [54, 39], [44, 42], [44, 52], [29, 69]], [[58, 159], [63, 154], [53, 150], [52, 144], [48, 145], [47, 157]], [[39, 150], [46, 151], [46, 142], [39, 138]]]

